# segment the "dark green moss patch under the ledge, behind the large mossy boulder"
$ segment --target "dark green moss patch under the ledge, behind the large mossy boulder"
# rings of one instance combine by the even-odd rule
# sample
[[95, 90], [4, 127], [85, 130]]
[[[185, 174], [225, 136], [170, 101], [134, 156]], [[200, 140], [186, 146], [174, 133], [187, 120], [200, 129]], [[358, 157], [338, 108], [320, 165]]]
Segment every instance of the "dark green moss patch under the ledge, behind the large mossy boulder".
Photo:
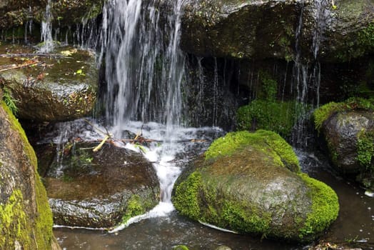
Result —
[[266, 129], [290, 136], [295, 121], [302, 114], [301, 104], [294, 101], [255, 100], [241, 106], [236, 113], [239, 130]]

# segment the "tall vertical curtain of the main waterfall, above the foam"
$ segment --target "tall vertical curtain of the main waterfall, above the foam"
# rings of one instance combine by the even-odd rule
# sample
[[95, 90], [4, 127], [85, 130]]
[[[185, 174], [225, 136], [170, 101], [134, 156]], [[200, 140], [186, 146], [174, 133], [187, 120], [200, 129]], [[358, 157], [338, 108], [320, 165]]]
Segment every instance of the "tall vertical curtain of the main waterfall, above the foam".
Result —
[[121, 136], [127, 121], [181, 123], [184, 56], [179, 49], [183, 1], [113, 0], [103, 8], [106, 118]]

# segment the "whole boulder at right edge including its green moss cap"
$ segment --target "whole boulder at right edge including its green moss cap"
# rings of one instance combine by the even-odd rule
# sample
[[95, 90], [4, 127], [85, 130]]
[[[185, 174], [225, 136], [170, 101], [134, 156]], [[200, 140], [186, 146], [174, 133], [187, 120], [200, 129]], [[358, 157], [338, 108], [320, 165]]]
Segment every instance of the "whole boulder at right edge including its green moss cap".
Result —
[[330, 102], [315, 110], [314, 121], [333, 166], [373, 191], [374, 100]]

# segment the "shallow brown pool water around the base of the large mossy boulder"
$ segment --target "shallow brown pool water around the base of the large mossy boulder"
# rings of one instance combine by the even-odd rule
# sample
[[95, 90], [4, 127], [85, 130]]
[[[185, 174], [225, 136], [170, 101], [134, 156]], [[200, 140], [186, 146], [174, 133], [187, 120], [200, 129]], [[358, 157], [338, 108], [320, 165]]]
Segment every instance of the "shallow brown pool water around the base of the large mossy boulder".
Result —
[[[201, 150], [201, 149], [200, 149]], [[296, 150], [302, 170], [331, 186], [339, 197], [338, 219], [320, 241], [361, 249], [374, 249], [374, 199], [331, 169], [323, 154]], [[54, 234], [63, 249], [308, 249], [308, 246], [212, 229], [171, 211], [167, 216], [142, 219], [116, 233], [104, 230], [56, 227]]]

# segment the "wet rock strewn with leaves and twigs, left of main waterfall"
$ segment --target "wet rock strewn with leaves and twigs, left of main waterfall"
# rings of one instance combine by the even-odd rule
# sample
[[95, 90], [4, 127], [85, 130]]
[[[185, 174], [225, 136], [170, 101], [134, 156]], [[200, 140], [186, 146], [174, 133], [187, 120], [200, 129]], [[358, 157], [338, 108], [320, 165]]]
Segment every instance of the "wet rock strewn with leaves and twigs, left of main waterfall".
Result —
[[9, 54], [0, 58], [0, 85], [14, 99], [16, 115], [34, 121], [66, 121], [90, 114], [98, 88], [93, 52], [70, 47], [57, 49], [51, 56], [32, 52], [29, 47], [0, 46], [0, 54]]

